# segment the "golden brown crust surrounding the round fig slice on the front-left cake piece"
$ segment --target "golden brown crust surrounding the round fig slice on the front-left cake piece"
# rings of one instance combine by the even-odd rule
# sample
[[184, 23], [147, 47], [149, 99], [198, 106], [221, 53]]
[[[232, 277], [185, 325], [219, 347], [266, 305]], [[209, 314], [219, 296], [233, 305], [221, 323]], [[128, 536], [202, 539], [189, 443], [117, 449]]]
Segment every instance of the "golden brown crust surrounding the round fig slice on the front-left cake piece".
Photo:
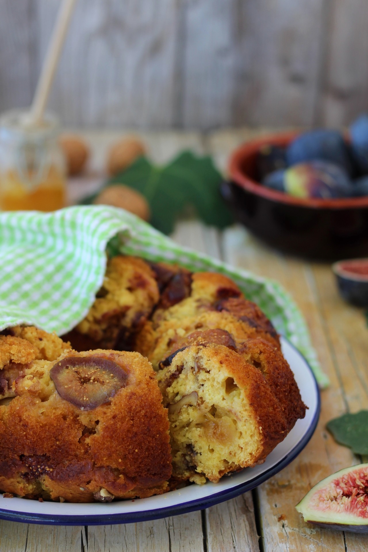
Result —
[[55, 362], [30, 363], [17, 396], [0, 406], [0, 489], [72, 502], [92, 502], [101, 490], [119, 498], [164, 492], [172, 469], [168, 419], [150, 364], [139, 353], [106, 350], [71, 351], [57, 363], [76, 355], [113, 361], [126, 385], [109, 403], [83, 411], [56, 391]]

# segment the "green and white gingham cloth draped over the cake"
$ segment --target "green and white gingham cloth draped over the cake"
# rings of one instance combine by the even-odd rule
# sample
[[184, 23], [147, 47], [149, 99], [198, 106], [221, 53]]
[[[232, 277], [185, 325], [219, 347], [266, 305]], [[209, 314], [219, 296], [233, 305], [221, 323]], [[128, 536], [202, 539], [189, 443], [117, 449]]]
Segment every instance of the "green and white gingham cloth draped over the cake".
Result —
[[106, 244], [114, 236], [121, 253], [230, 276], [305, 355], [319, 385], [328, 385], [305, 320], [278, 283], [180, 247], [135, 215], [108, 206], [0, 214], [0, 330], [20, 323], [58, 335], [71, 330], [103, 282]]

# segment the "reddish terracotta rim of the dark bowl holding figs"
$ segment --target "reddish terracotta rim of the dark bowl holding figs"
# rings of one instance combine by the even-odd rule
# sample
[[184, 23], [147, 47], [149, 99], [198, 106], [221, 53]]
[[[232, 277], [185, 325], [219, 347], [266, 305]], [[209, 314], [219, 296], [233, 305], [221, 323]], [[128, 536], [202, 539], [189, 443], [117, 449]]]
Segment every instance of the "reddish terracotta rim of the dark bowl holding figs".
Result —
[[266, 144], [285, 146], [300, 134], [301, 131], [276, 132], [274, 134], [264, 135], [255, 140], [249, 140], [239, 146], [233, 151], [228, 162], [228, 174], [231, 181], [240, 188], [247, 190], [247, 192], [286, 205], [295, 205], [312, 209], [359, 209], [368, 207], [368, 196], [337, 199], [295, 198], [284, 192], [266, 188], [260, 184], [260, 182], [255, 181], [244, 173], [242, 169], [244, 158], [247, 158], [249, 155], [254, 155], [260, 147]]

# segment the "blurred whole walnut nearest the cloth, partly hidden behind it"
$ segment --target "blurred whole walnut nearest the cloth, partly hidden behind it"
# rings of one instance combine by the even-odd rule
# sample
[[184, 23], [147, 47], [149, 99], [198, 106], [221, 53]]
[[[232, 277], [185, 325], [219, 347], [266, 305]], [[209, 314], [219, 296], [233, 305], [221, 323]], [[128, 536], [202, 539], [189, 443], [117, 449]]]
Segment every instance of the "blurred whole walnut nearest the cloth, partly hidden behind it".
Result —
[[104, 188], [95, 198], [95, 205], [112, 205], [130, 211], [143, 220], [150, 220], [150, 207], [142, 194], [123, 184], [113, 184]]

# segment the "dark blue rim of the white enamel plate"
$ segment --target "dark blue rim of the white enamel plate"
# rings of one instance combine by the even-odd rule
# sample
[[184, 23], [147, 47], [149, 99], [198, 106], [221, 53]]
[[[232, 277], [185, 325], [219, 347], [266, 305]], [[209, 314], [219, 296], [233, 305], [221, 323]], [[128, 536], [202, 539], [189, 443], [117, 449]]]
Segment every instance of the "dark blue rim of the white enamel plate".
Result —
[[288, 464], [291, 463], [292, 460], [294, 460], [297, 457], [298, 454], [301, 453], [303, 448], [306, 447], [306, 445], [308, 444], [308, 442], [310, 441], [314, 433], [314, 430], [317, 427], [317, 423], [319, 420], [319, 413], [321, 411], [321, 394], [319, 392], [318, 383], [313, 374], [313, 370], [310, 367], [310, 364], [308, 363], [306, 358], [303, 357], [302, 353], [298, 351], [298, 349], [289, 341], [289, 339], [286, 339], [284, 336], [282, 336], [282, 338], [285, 339], [285, 341], [287, 341], [290, 347], [294, 349], [294, 351], [303, 359], [303, 362], [305, 362], [308, 369], [310, 370], [312, 375], [312, 380], [314, 383], [314, 388], [315, 388], [314, 391], [316, 391], [317, 406], [316, 406], [316, 412], [314, 413], [310, 426], [308, 427], [308, 431], [305, 433], [303, 438], [278, 463], [271, 466], [271, 468], [264, 471], [264, 473], [257, 475], [253, 477], [253, 479], [250, 479], [240, 485], [232, 487], [231, 489], [214, 493], [209, 497], [198, 498], [192, 501], [186, 501], [186, 502], [183, 502], [182, 504], [178, 504], [175, 506], [156, 508], [151, 512], [141, 511], [141, 512], [132, 512], [131, 514], [124, 512], [124, 513], [106, 514], [106, 515], [95, 514], [91, 516], [88, 516], [86, 514], [83, 514], [81, 516], [68, 516], [68, 515], [48, 516], [47, 514], [31, 514], [28, 512], [26, 513], [14, 512], [11, 510], [0, 508], [0, 519], [4, 519], [6, 521], [23, 522], [23, 523], [38, 523], [42, 525], [63, 525], [63, 526], [76, 526], [76, 525], [92, 526], [92, 525], [114, 525], [118, 523], [136, 523], [136, 522], [143, 522], [143, 521], [151, 521], [152, 519], [161, 519], [168, 516], [178, 516], [179, 514], [185, 514], [185, 513], [209, 508], [211, 506], [215, 506], [220, 502], [225, 502], [226, 500], [235, 498], [239, 495], [242, 495], [244, 492], [251, 491], [255, 487], [258, 487], [266, 480], [270, 479], [270, 477], [273, 477], [274, 475], [279, 473], [279, 471], [284, 469]]

